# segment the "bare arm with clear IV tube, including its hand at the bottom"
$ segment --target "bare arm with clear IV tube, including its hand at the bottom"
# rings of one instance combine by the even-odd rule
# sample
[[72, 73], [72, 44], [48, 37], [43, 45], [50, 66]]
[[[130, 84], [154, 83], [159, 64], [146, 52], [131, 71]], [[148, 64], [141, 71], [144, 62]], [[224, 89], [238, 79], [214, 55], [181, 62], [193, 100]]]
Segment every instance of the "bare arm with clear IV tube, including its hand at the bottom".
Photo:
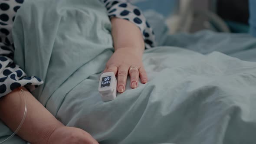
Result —
[[[13, 131], [24, 114], [20, 89], [0, 98], [0, 118]], [[98, 144], [87, 132], [64, 126], [30, 92], [22, 89], [27, 101], [27, 115], [18, 135], [24, 140], [31, 144]]]

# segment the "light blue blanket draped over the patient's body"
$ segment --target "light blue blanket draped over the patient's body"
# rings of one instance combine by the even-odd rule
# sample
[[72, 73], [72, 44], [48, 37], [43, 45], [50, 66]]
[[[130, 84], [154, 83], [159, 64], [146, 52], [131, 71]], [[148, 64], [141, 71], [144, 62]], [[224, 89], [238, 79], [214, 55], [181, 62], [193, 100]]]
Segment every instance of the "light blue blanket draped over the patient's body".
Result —
[[[255, 39], [210, 32], [166, 36], [163, 45], [183, 41], [186, 49], [146, 50], [149, 82], [103, 102], [97, 88], [113, 53], [110, 27], [96, 0], [26, 0], [17, 13], [15, 62], [44, 80], [33, 95], [59, 121], [88, 131], [100, 144], [255, 144], [256, 62], [210, 52], [231, 49], [225, 42], [231, 38], [235, 48], [253, 49]], [[212, 49], [203, 55], [193, 46]], [[0, 136], [11, 134], [0, 127]], [[22, 144], [17, 137], [8, 144], [14, 141]]]

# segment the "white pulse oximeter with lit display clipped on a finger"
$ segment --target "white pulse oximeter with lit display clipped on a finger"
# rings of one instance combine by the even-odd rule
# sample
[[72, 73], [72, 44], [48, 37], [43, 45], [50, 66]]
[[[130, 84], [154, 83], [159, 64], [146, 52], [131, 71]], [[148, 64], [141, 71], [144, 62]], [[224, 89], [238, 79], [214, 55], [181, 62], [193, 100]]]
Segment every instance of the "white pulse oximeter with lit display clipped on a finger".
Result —
[[114, 72], [105, 72], [100, 76], [98, 92], [102, 95], [102, 101], [112, 101], [116, 98], [117, 82]]

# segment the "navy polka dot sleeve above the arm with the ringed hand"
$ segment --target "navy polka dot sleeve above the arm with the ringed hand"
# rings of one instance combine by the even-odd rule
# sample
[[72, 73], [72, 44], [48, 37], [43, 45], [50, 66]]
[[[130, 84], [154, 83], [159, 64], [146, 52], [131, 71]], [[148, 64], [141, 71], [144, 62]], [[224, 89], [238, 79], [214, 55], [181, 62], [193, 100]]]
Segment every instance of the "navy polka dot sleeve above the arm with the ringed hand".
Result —
[[[147, 49], [154, 47], [155, 36], [150, 25], [146, 21], [145, 17], [141, 13], [138, 7], [128, 3], [128, 0], [101, 0], [105, 4], [108, 10], [108, 16], [118, 17], [124, 20], [129, 20], [139, 27], [145, 41], [145, 47]], [[111, 3], [111, 4], [109, 4]]]

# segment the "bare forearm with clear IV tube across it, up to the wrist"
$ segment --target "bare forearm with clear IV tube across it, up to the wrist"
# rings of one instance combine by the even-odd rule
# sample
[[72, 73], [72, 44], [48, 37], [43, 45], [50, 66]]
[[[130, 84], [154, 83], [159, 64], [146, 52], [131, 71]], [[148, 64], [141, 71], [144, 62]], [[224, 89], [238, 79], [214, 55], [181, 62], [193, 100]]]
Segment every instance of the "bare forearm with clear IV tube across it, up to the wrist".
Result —
[[[22, 88], [27, 101], [26, 119], [18, 135], [32, 144], [45, 144], [53, 131], [62, 127], [60, 123], [43, 105], [25, 88]], [[0, 118], [13, 131], [20, 124], [24, 114], [24, 102], [20, 88], [0, 99]]]

